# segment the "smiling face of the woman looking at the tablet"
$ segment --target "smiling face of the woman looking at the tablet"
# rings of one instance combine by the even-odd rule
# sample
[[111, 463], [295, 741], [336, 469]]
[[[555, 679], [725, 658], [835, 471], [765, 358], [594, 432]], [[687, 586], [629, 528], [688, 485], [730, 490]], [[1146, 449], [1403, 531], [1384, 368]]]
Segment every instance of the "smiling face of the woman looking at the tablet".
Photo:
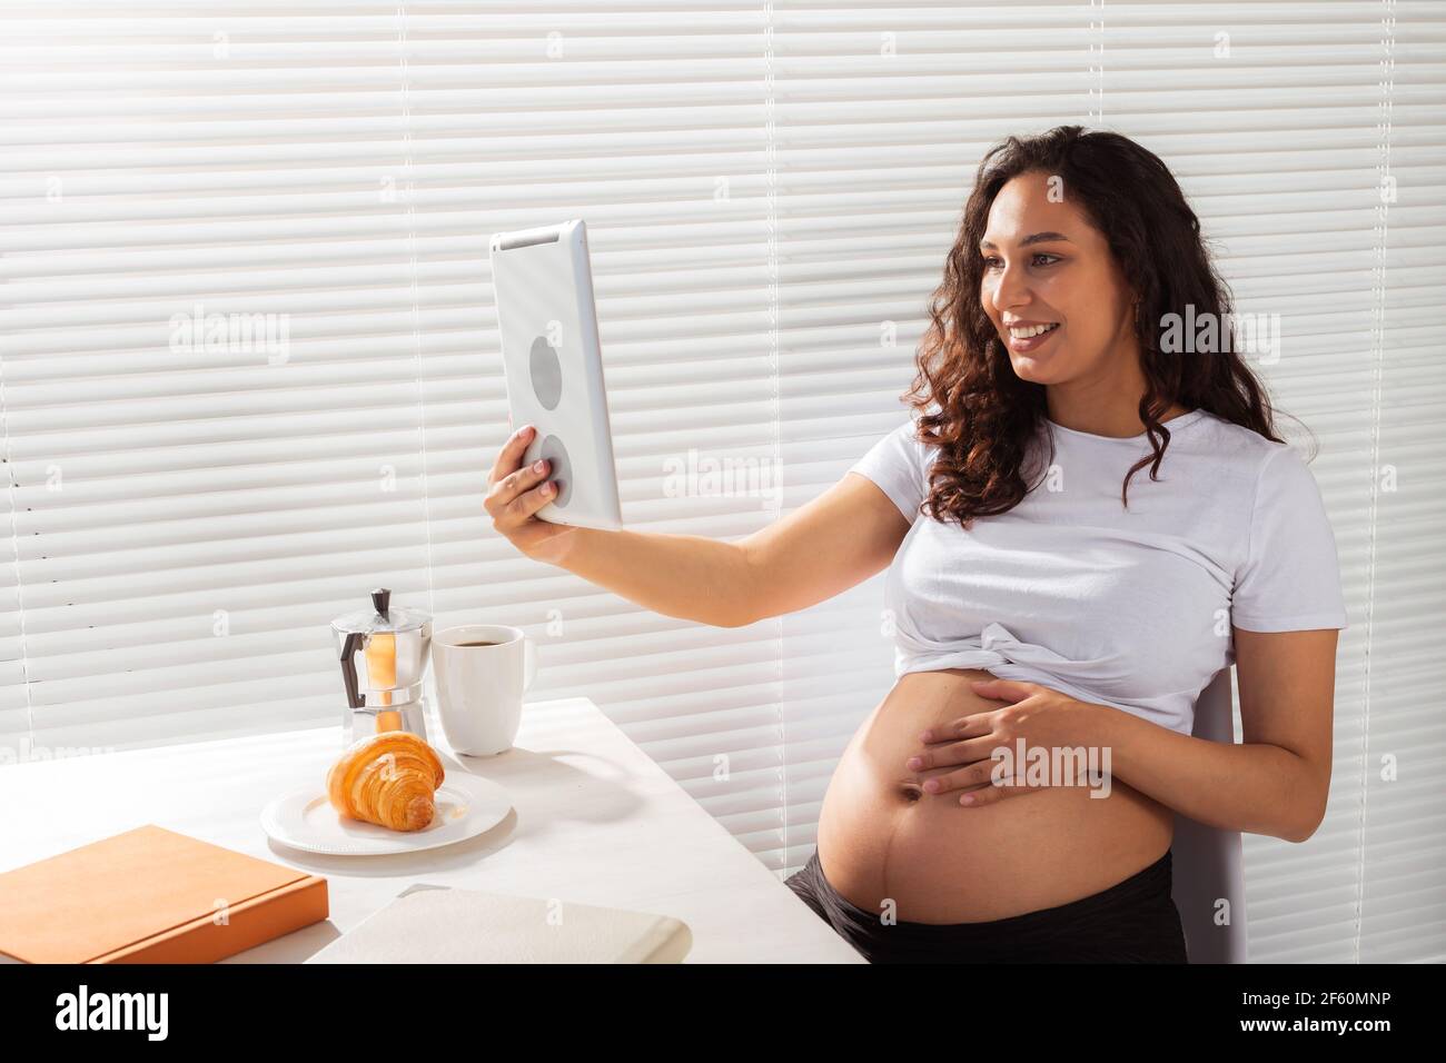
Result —
[[[999, 189], [977, 249], [979, 298], [1021, 380], [1108, 388], [1138, 366], [1134, 294], [1103, 234], [1063, 191], [1063, 202], [1051, 200], [1050, 175], [1038, 172]], [[1030, 337], [1031, 325], [1054, 328]]]

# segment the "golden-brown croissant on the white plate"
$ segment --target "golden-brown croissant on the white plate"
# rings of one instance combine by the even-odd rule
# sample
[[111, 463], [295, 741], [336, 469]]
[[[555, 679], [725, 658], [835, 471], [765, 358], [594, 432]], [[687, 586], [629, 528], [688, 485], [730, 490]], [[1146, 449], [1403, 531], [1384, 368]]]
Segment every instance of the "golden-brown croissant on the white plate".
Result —
[[442, 762], [427, 740], [408, 730], [369, 735], [327, 772], [327, 800], [343, 816], [390, 830], [421, 830], [437, 814], [432, 794]]

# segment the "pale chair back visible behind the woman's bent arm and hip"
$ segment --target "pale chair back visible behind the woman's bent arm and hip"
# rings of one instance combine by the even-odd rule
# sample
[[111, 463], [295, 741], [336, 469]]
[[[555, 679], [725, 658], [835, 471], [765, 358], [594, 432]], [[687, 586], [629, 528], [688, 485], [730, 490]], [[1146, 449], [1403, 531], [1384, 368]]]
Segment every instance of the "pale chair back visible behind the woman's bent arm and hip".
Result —
[[[1231, 668], [1222, 668], [1200, 691], [1194, 706], [1196, 738], [1235, 742], [1235, 700]], [[1241, 832], [1209, 827], [1176, 813], [1171, 895], [1184, 926], [1192, 963], [1245, 963], [1245, 866]], [[1219, 918], [1219, 901], [1229, 901], [1229, 923]]]

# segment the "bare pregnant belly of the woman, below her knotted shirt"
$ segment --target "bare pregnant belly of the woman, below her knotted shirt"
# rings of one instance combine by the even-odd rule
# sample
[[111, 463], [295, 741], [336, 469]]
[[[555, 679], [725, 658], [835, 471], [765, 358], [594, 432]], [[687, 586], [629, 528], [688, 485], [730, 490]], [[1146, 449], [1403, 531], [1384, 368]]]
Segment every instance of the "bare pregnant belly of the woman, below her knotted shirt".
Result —
[[911, 923], [1006, 918], [1106, 889], [1170, 848], [1174, 813], [1118, 778], [977, 808], [959, 804], [966, 790], [923, 791], [924, 780], [962, 765], [907, 768], [923, 749], [920, 732], [1006, 704], [976, 694], [969, 681], [979, 678], [991, 674], [904, 675], [839, 761], [818, 820], [818, 863], [859, 908], [881, 913], [891, 900], [895, 917]]

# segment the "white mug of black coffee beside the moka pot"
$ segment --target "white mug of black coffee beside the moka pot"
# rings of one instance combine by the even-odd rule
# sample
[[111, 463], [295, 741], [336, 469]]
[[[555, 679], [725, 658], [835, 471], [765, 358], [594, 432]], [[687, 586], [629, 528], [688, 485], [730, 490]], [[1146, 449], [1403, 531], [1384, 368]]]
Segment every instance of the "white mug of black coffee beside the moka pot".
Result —
[[[466, 645], [487, 642], [492, 645]], [[437, 716], [454, 752], [492, 756], [512, 748], [522, 694], [536, 675], [536, 646], [521, 628], [467, 623], [432, 633]]]

